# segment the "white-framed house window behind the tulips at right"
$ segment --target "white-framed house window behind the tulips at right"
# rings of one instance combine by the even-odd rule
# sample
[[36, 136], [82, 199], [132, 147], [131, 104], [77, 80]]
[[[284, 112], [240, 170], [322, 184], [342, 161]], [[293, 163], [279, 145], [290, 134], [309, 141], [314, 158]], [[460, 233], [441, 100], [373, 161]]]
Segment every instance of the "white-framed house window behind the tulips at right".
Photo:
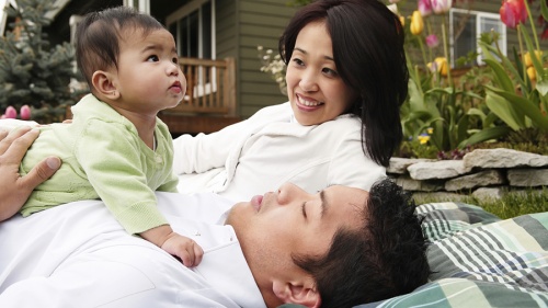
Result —
[[477, 52], [478, 56], [470, 65], [482, 65], [483, 57], [478, 39], [482, 33], [491, 30], [499, 33], [499, 47], [506, 55], [506, 27], [501, 22], [499, 14], [452, 9], [449, 11], [449, 25], [452, 64], [455, 64], [460, 57], [466, 57], [470, 52]]

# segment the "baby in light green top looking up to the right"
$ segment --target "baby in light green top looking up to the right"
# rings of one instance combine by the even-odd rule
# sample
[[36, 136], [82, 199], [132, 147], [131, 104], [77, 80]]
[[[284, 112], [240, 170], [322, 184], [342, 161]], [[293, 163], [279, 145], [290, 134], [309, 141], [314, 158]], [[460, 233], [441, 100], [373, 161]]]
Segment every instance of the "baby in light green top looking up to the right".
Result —
[[78, 26], [76, 55], [91, 94], [72, 107], [72, 124], [43, 127], [26, 153], [23, 174], [47, 156], [64, 163], [21, 214], [101, 198], [127, 232], [196, 266], [202, 248], [172, 230], [155, 195], [176, 192], [178, 184], [171, 135], [157, 117], [179, 104], [186, 89], [173, 36], [130, 8], [106, 9]]

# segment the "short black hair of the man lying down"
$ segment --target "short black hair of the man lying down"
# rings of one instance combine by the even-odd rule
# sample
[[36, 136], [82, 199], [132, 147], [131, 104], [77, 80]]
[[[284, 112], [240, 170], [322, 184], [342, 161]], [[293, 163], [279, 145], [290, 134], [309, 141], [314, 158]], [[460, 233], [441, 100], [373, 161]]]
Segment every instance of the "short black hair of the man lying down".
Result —
[[340, 229], [326, 255], [293, 255], [310, 273], [321, 307], [353, 307], [407, 294], [431, 273], [422, 218], [393, 181], [377, 181], [362, 212], [357, 230]]

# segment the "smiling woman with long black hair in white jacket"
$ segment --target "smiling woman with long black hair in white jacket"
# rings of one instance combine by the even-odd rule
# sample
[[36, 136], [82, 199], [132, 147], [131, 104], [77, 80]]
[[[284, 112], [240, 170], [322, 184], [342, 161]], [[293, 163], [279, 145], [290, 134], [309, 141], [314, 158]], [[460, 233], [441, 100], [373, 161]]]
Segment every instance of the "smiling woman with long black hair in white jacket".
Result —
[[289, 102], [176, 138], [180, 191], [240, 199], [284, 182], [369, 190], [386, 175], [409, 78], [399, 19], [377, 0], [316, 1], [292, 19], [279, 53]]

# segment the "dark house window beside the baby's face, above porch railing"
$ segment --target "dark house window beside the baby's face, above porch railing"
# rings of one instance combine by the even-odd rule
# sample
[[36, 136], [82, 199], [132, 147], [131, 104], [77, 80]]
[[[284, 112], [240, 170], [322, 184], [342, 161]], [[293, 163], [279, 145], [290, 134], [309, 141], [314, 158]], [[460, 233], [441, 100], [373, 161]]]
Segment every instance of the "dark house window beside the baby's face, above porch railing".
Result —
[[215, 59], [215, 0], [193, 0], [168, 15], [165, 25], [182, 57]]

